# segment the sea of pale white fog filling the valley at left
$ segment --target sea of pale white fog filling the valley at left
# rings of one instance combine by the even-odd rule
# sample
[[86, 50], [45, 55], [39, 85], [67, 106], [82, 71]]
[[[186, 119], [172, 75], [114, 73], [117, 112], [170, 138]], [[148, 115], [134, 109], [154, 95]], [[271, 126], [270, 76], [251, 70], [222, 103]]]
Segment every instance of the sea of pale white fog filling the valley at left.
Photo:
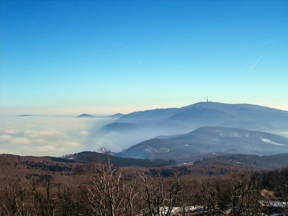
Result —
[[112, 118], [75, 118], [67, 116], [1, 116], [1, 153], [22, 156], [61, 156], [80, 151], [111, 151], [137, 144], [141, 134], [99, 133]]

